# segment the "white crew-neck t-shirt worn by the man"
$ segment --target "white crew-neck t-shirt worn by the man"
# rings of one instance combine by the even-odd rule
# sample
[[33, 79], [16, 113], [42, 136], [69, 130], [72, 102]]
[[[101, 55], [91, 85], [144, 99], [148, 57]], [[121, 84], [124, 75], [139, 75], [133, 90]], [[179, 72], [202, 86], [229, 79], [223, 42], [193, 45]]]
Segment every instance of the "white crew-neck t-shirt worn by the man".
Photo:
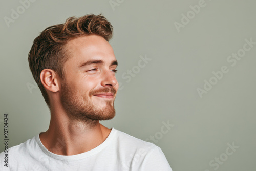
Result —
[[[8, 167], [5, 154], [8, 154]], [[114, 128], [104, 142], [88, 152], [71, 156], [51, 153], [42, 145], [38, 134], [9, 148], [8, 153], [2, 152], [0, 161], [0, 170], [172, 170], [158, 146]]]

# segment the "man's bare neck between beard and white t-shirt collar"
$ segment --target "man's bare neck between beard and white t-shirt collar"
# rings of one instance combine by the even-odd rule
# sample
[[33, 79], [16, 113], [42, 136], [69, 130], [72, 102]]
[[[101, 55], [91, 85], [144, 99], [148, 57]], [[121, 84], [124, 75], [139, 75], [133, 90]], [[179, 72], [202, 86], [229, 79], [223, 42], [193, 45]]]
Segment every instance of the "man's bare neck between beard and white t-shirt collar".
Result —
[[71, 120], [64, 111], [56, 112], [51, 109], [49, 129], [39, 137], [48, 151], [54, 154], [84, 153], [100, 145], [111, 132], [111, 129], [99, 121], [92, 122], [94, 123]]

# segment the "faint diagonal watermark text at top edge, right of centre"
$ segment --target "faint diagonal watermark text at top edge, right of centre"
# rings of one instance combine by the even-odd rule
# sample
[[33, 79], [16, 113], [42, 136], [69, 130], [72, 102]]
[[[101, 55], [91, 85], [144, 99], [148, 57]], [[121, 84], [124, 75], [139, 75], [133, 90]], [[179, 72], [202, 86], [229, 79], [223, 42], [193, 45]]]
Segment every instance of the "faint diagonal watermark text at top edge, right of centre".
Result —
[[[209, 0], [211, 1], [211, 0]], [[180, 32], [181, 28], [184, 28], [191, 19], [195, 18], [196, 14], [199, 14], [199, 12], [201, 11], [201, 8], [204, 8], [206, 6], [205, 0], [199, 0], [198, 1], [198, 5], [190, 5], [189, 8], [191, 10], [189, 10], [186, 15], [184, 13], [181, 14], [181, 20], [180, 22], [174, 22], [174, 26], [177, 29], [178, 33]]]

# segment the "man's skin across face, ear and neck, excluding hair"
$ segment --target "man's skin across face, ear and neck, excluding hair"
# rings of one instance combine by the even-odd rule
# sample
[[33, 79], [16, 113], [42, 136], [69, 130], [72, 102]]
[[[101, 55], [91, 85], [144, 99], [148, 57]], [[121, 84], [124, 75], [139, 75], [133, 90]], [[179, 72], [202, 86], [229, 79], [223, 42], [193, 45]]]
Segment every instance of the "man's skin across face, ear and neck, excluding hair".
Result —
[[[76, 155], [97, 147], [111, 132], [99, 120], [115, 116], [117, 64], [109, 42], [97, 35], [75, 38], [66, 48], [70, 58], [63, 66], [65, 78], [50, 69], [40, 75], [50, 98], [51, 121], [39, 137], [52, 153]], [[103, 62], [80, 67], [92, 59]], [[107, 92], [113, 96], [96, 95]]]

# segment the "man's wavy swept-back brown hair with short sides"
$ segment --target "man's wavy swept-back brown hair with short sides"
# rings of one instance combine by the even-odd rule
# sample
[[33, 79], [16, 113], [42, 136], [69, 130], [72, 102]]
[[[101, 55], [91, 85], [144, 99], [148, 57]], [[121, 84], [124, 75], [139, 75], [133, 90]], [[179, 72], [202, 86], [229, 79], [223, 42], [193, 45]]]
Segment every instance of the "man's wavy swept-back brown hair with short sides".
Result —
[[40, 80], [41, 71], [51, 69], [61, 79], [65, 79], [63, 65], [70, 57], [66, 49], [67, 42], [88, 35], [99, 35], [109, 41], [113, 35], [113, 26], [101, 14], [87, 14], [79, 18], [70, 17], [64, 24], [50, 26], [35, 38], [28, 54], [29, 67], [49, 108], [50, 100]]

